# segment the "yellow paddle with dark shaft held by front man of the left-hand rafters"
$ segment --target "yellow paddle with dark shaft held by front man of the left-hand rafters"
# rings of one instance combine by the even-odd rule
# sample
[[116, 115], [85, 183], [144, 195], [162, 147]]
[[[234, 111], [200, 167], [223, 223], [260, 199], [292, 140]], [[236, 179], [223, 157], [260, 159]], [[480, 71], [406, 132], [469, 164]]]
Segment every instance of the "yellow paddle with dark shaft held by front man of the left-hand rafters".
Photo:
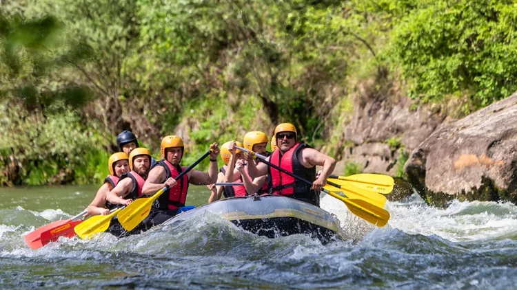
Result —
[[[203, 159], [205, 159], [208, 155], [212, 153], [212, 150], [208, 150], [207, 153], [203, 154], [201, 158], [195, 161], [191, 166], [188, 166], [183, 172], [181, 172], [176, 178], [176, 180], [181, 179], [183, 175], [187, 174], [192, 168], [194, 168], [197, 164], [199, 164]], [[133, 230], [136, 225], [139, 225], [141, 221], [145, 219], [151, 212], [151, 207], [153, 201], [160, 197], [163, 192], [168, 190], [168, 186], [165, 186], [152, 197], [145, 197], [140, 199], [135, 199], [132, 203], [130, 203], [124, 210], [122, 210], [117, 218], [119, 219], [120, 224], [124, 228], [124, 230], [130, 231]]]

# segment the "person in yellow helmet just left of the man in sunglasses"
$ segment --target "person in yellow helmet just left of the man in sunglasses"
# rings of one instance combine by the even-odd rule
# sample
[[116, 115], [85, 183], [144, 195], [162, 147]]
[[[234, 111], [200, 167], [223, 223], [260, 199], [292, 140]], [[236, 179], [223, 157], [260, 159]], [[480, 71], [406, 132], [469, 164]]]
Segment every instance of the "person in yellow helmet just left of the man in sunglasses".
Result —
[[[244, 148], [247, 150], [252, 150], [254, 153], [259, 153], [261, 155], [270, 156], [271, 153], [267, 152], [266, 145], [269, 140], [267, 140], [267, 136], [261, 131], [251, 131], [244, 135]], [[234, 154], [235, 144], [230, 144], [229, 150], [230, 153]], [[256, 160], [252, 162], [257, 162]], [[265, 175], [261, 177], [256, 177], [252, 179], [245, 169], [245, 161], [237, 160], [235, 164], [236, 172], [227, 171], [225, 177], [227, 182], [234, 182], [237, 179], [241, 180], [244, 183], [247, 192], [250, 193], [258, 193], [258, 194], [267, 194], [270, 193], [272, 188], [270, 175]], [[239, 181], [237, 181], [239, 182]]]

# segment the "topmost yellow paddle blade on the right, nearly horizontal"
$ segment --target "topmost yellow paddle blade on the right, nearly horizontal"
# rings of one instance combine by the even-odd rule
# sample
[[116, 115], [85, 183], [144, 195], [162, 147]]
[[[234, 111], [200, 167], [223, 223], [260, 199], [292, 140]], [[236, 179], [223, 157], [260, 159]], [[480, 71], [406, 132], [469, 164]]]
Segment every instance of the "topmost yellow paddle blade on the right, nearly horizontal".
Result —
[[374, 192], [388, 194], [393, 191], [393, 177], [388, 175], [378, 175], [371, 173], [361, 173], [350, 176], [330, 175], [332, 182], [341, 185], [348, 181], [353, 186], [363, 188], [365, 190], [372, 190]]

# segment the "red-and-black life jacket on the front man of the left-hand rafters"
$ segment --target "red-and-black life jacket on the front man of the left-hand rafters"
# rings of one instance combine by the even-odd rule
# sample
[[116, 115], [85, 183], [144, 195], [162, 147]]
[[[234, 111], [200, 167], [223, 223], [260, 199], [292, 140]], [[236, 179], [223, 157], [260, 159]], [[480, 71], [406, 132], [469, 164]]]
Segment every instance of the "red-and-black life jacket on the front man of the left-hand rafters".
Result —
[[[163, 166], [165, 168], [166, 177], [172, 177], [176, 179], [178, 175], [185, 170], [185, 167], [181, 167], [179, 165], [173, 166], [169, 161], [165, 159], [161, 159], [156, 162], [155, 166]], [[175, 186], [169, 188], [168, 191], [161, 194], [161, 196], [157, 199], [156, 208], [159, 210], [174, 210], [176, 208], [183, 208], [185, 206], [185, 201], [187, 200], [187, 192], [188, 192], [188, 175], [183, 175], [181, 179], [178, 180]]]

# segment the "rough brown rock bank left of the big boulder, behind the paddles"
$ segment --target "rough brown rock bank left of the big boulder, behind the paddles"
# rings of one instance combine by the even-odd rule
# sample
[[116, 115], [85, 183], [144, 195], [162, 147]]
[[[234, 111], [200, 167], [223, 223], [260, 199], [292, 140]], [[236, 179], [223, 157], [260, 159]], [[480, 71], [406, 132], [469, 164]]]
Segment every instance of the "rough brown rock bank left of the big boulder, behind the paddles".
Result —
[[354, 162], [361, 164], [363, 172], [396, 175], [403, 153], [409, 155], [444, 119], [427, 107], [412, 110], [411, 105], [406, 97], [356, 100], [343, 133], [349, 146], [334, 172]]

